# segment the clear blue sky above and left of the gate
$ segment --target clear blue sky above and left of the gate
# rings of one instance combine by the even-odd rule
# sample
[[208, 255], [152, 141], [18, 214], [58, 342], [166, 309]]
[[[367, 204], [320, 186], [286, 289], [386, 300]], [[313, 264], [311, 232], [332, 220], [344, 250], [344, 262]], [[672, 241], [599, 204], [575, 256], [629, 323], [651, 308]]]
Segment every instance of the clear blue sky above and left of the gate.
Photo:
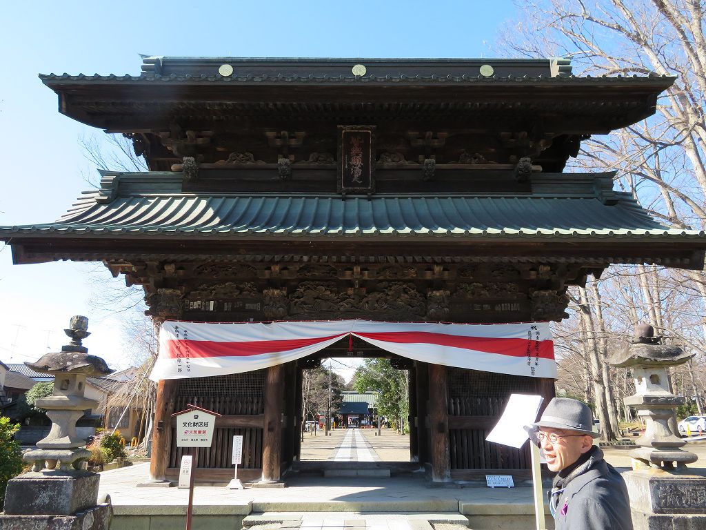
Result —
[[[0, 225], [54, 220], [88, 189], [78, 139], [38, 73], [138, 74], [138, 54], [194, 57], [492, 57], [510, 0], [7, 2], [0, 33]], [[36, 360], [89, 317], [90, 353], [126, 367], [123, 314], [90, 305], [95, 264], [11, 264], [0, 249], [0, 360]], [[98, 270], [99, 272], [95, 272]], [[123, 279], [114, 280], [124, 285]]]

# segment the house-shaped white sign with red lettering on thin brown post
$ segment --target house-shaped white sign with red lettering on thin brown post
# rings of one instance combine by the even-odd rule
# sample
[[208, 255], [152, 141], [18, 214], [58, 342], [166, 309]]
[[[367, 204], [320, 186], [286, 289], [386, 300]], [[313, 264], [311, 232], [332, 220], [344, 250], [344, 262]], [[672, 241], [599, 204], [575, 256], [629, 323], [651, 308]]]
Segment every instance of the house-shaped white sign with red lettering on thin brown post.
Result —
[[[193, 479], [198, 465], [198, 448], [211, 447], [213, 428], [219, 413], [196, 405], [187, 405], [186, 410], [172, 414], [177, 417], [177, 447], [193, 447], [191, 456], [181, 457], [179, 488], [189, 481], [189, 505], [186, 507], [186, 530], [191, 530], [193, 516]], [[187, 478], [188, 477], [188, 478]]]

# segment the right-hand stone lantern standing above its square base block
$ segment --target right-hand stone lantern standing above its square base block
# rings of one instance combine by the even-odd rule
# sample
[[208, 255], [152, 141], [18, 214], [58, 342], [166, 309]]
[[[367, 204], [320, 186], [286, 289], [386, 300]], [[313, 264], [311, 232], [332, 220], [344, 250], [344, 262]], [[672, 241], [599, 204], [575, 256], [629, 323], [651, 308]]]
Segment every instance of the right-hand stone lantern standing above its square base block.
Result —
[[681, 449], [686, 442], [675, 432], [675, 409], [685, 399], [671, 393], [667, 369], [686, 363], [694, 354], [661, 342], [662, 337], [654, 336], [652, 326], [640, 324], [631, 343], [609, 363], [632, 371], [635, 394], [624, 401], [645, 420], [645, 434], [638, 438], [638, 449], [630, 456], [661, 468], [682, 467], [698, 457]]

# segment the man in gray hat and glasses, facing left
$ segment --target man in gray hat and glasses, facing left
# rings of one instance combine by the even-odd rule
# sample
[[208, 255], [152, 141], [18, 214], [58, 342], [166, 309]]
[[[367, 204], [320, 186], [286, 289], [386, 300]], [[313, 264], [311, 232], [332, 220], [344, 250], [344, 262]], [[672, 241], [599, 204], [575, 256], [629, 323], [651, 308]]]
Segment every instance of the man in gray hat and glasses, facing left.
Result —
[[575, 399], [554, 398], [542, 418], [527, 425], [532, 441], [556, 471], [549, 508], [556, 530], [633, 530], [628, 488], [593, 444], [591, 409]]

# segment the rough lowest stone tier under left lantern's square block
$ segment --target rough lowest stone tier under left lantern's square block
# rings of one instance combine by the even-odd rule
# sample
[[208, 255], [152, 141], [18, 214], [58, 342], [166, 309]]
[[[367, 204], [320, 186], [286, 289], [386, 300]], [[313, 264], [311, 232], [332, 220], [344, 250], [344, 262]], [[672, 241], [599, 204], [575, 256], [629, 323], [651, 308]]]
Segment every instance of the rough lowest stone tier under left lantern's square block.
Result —
[[112, 517], [110, 502], [74, 515], [0, 514], [0, 530], [108, 530]]

